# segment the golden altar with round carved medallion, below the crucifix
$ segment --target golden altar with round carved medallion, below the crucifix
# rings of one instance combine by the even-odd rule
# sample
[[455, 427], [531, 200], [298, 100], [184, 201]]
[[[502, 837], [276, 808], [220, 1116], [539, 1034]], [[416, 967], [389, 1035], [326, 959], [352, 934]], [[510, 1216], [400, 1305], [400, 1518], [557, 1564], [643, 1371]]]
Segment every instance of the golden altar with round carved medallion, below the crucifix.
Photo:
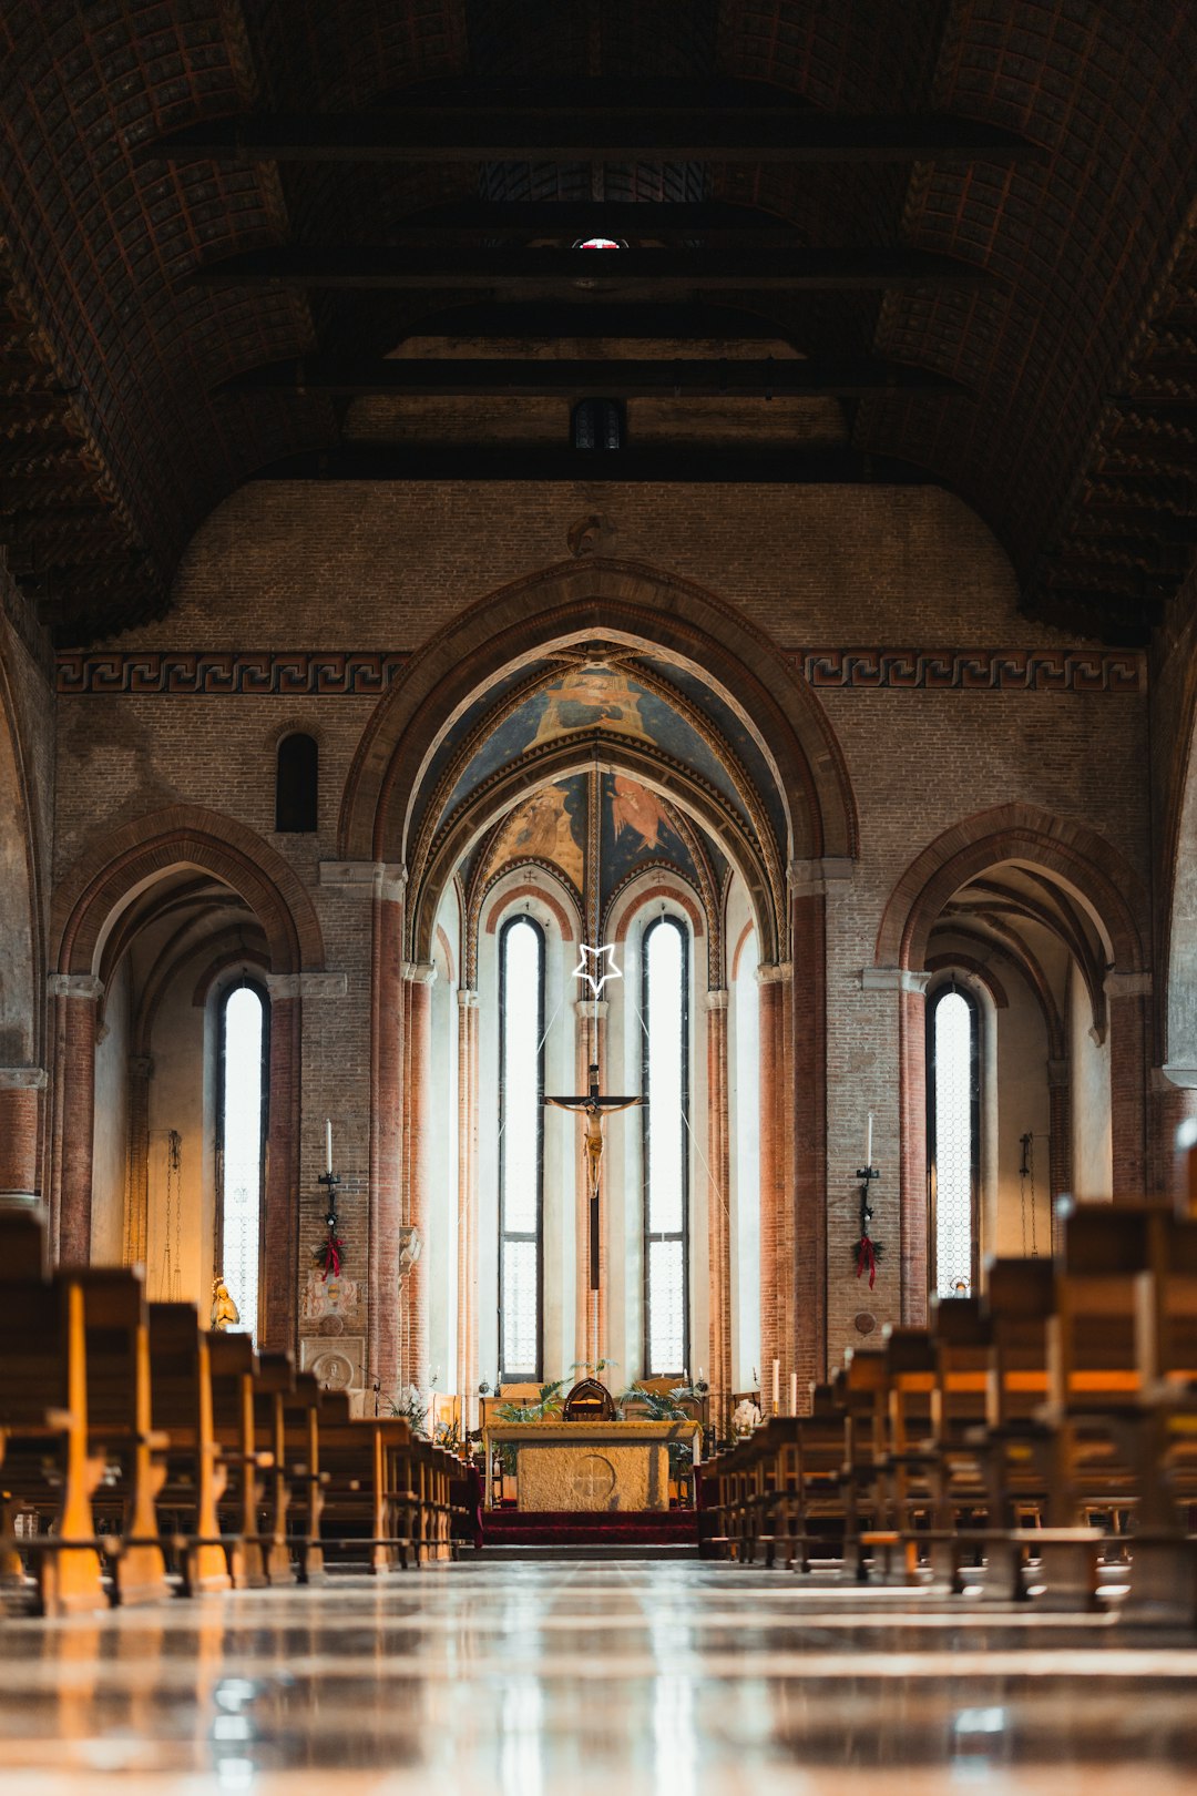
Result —
[[[490, 1422], [494, 1446], [515, 1446], [517, 1509], [668, 1509], [669, 1442], [693, 1442], [698, 1422]], [[486, 1480], [492, 1507], [492, 1482]]]

